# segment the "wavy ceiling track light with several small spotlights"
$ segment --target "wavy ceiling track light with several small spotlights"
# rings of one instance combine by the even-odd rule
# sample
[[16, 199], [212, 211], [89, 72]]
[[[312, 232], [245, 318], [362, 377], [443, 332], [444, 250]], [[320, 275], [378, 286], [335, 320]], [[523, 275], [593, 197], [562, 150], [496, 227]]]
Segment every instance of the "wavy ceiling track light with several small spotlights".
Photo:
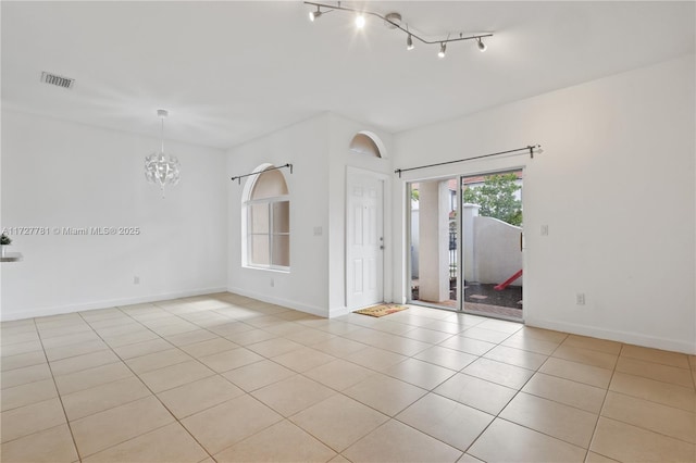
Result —
[[[439, 52], [437, 53], [437, 55], [439, 58], [445, 58], [445, 53], [447, 50], [447, 43], [449, 43], [450, 41], [465, 41], [465, 40], [473, 40], [476, 43], [476, 47], [478, 48], [480, 51], [486, 51], [486, 45], [483, 42], [482, 39], [486, 38], [486, 37], [493, 37], [493, 33], [472, 33], [469, 35], [464, 35], [464, 33], [459, 33], [459, 37], [456, 38], [449, 38], [449, 35], [447, 36], [447, 38], [445, 40], [439, 39], [439, 40], [426, 40], [423, 37], [418, 36], [417, 34], [413, 34], [411, 30], [409, 30], [408, 24], [406, 24], [405, 26], [401, 25], [401, 15], [399, 13], [396, 12], [391, 12], [388, 13], [386, 15], [382, 15], [380, 13], [375, 13], [372, 11], [365, 11], [365, 10], [358, 10], [355, 8], [349, 8], [349, 7], [343, 7], [341, 2], [337, 1], [335, 2], [336, 4], [326, 4], [326, 3], [316, 3], [316, 2], [312, 2], [312, 1], [306, 1], [304, 4], [309, 4], [311, 7], [316, 7], [316, 11], [312, 11], [309, 13], [309, 18], [310, 21], [314, 21], [316, 20], [319, 16], [321, 16], [324, 13], [328, 13], [331, 11], [348, 11], [351, 13], [356, 14], [356, 26], [359, 29], [362, 29], [365, 26], [365, 17], [366, 16], [375, 16], [381, 18], [384, 24], [390, 28], [390, 29], [399, 29], [402, 33], [405, 33], [407, 35], [406, 37], [406, 49], [407, 50], [413, 50], [414, 48], [414, 41], [413, 39], [420, 41], [421, 43], [425, 43], [425, 45], [437, 45], [439, 43]], [[321, 9], [324, 8], [327, 11], [321, 11]]]

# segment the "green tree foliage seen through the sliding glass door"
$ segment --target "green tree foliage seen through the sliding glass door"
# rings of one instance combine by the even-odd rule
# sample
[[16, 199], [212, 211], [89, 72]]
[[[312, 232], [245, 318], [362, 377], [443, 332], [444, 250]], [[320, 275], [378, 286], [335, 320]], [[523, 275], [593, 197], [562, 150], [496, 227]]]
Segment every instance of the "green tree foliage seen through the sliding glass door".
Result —
[[498, 218], [510, 225], [522, 225], [522, 201], [514, 193], [522, 188], [515, 184], [517, 174], [496, 174], [486, 177], [480, 187], [467, 187], [464, 202], [478, 204], [478, 215]]

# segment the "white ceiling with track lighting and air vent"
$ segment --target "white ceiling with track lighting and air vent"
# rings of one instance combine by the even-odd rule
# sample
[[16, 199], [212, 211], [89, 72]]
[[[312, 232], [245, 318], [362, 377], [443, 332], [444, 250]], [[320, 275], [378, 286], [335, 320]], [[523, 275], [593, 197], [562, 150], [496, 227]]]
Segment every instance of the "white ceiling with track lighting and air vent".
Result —
[[[2, 104], [229, 148], [324, 111], [397, 133], [694, 53], [695, 3], [343, 2], [399, 12], [427, 39], [406, 51], [369, 17], [308, 21], [300, 1], [1, 2]], [[65, 90], [41, 71], [76, 79]]]

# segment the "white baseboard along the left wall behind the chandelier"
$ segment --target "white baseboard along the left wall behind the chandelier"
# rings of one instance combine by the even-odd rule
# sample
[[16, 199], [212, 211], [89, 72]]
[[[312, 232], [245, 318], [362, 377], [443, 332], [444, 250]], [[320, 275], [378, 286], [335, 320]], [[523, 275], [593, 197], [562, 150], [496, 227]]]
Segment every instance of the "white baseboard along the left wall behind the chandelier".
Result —
[[88, 310], [110, 309], [119, 305], [141, 304], [147, 302], [158, 302], [167, 299], [188, 298], [191, 296], [212, 295], [215, 292], [225, 292], [227, 288], [206, 288], [190, 289], [187, 291], [163, 292], [159, 295], [139, 296], [137, 298], [120, 298], [95, 302], [84, 302], [79, 304], [57, 305], [48, 308], [28, 309], [23, 311], [5, 311], [0, 310], [0, 321], [9, 322], [13, 320], [34, 318], [37, 316], [61, 315], [64, 313], [84, 312]]

